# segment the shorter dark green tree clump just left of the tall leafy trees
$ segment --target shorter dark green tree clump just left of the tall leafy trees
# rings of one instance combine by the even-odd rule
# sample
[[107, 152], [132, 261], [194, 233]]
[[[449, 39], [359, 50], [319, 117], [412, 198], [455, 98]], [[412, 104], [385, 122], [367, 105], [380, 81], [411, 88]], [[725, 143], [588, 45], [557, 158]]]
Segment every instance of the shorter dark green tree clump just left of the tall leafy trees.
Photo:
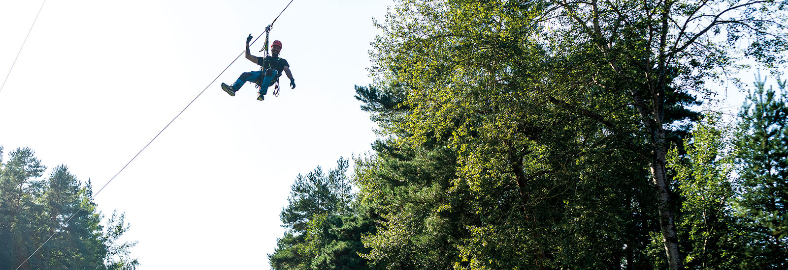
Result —
[[370, 224], [352, 211], [348, 166], [348, 159], [340, 158], [328, 174], [318, 166], [296, 177], [289, 204], [281, 213], [288, 231], [268, 256], [272, 268], [366, 268], [359, 251], [363, 250], [361, 235]]

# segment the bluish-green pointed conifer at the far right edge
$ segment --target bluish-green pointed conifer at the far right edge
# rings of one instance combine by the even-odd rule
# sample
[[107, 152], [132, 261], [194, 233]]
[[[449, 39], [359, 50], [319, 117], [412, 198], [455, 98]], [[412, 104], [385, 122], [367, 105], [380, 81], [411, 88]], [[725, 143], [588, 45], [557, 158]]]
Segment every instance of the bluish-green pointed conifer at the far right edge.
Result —
[[788, 98], [756, 77], [736, 133], [740, 166], [738, 207], [749, 221], [750, 254], [761, 269], [788, 268]]

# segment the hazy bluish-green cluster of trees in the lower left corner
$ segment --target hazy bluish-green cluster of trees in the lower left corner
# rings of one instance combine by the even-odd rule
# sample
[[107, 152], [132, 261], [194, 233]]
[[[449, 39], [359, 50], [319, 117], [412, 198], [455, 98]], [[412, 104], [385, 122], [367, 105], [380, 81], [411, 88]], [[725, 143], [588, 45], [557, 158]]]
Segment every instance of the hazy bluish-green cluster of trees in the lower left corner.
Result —
[[0, 148], [0, 161], [0, 269], [139, 265], [129, 257], [136, 243], [119, 241], [128, 231], [124, 214], [113, 213], [102, 223], [103, 215], [91, 200], [90, 181], [82, 183], [62, 165], [40, 178], [46, 166], [29, 148], [12, 151], [7, 161]]

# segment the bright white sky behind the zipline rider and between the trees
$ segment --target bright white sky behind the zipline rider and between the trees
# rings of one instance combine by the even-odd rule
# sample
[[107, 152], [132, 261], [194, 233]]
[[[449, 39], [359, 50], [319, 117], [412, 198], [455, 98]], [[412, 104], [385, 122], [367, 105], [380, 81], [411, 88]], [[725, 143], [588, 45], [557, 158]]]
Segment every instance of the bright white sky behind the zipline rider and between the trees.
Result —
[[[0, 79], [42, 2], [0, 0]], [[0, 145], [30, 147], [98, 191], [288, 2], [48, 0], [0, 91]], [[296, 89], [258, 101], [247, 84], [230, 97], [219, 84], [258, 69], [240, 57], [95, 198], [126, 213], [141, 269], [269, 268], [296, 175], [375, 139], [353, 86], [371, 82], [372, 18], [388, 5], [293, 1], [270, 37]]]

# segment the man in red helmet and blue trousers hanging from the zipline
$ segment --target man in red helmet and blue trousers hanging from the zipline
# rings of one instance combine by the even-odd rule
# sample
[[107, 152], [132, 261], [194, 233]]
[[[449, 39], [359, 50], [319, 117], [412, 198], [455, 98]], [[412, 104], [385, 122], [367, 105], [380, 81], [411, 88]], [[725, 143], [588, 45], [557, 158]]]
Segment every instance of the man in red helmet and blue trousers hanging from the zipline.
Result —
[[[279, 58], [282, 42], [278, 40], [273, 41], [270, 56], [255, 57], [249, 52], [249, 42], [251, 42], [251, 39], [252, 36], [249, 35], [247, 37], [246, 57], [248, 60], [252, 61], [252, 63], [260, 65], [260, 67], [262, 67], [261, 70], [243, 72], [232, 86], [228, 86], [226, 83], [222, 82], [221, 89], [224, 89], [230, 96], [235, 97], [236, 92], [238, 92], [244, 83], [255, 82], [260, 86], [257, 100], [265, 100], [265, 95], [268, 93], [268, 87], [273, 86], [278, 81], [279, 76], [282, 75], [282, 71], [290, 78], [290, 88], [296, 88], [296, 80], [293, 79], [293, 75], [290, 73], [290, 64], [288, 64], [288, 60]], [[266, 43], [268, 43], [268, 40], [266, 40]], [[276, 91], [274, 93], [276, 93]]]

